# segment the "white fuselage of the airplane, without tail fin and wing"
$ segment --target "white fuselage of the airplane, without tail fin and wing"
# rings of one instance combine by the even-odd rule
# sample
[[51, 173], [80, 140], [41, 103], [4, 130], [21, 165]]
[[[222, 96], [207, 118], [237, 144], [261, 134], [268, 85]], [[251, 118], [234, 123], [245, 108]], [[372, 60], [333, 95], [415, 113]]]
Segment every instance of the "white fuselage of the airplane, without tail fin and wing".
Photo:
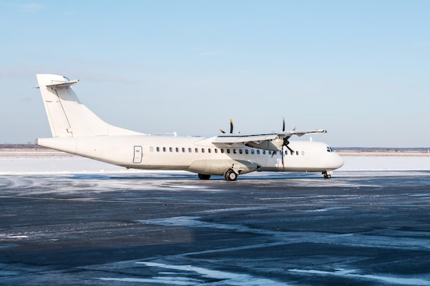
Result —
[[38, 139], [37, 144], [127, 168], [185, 170], [207, 175], [223, 175], [229, 168], [236, 168], [239, 174], [250, 171], [324, 172], [343, 165], [342, 158], [326, 143], [315, 141], [291, 141], [288, 147], [295, 152], [291, 154], [284, 147], [284, 165], [280, 152], [272, 156], [269, 151], [247, 146], [217, 146], [211, 139], [194, 136], [54, 137]]

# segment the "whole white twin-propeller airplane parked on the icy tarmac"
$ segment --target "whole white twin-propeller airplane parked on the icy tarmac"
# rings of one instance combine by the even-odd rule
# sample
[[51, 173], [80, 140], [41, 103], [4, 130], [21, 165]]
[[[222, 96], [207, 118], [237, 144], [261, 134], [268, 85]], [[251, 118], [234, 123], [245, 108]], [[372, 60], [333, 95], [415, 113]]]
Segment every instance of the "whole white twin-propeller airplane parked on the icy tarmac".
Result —
[[231, 124], [230, 134], [212, 138], [149, 135], [102, 121], [76, 97], [71, 86], [78, 80], [36, 77], [52, 132], [52, 138], [36, 139], [37, 145], [126, 168], [191, 171], [201, 180], [224, 176], [234, 181], [252, 171], [321, 172], [330, 178], [343, 165], [326, 143], [288, 141], [326, 130], [232, 134]]

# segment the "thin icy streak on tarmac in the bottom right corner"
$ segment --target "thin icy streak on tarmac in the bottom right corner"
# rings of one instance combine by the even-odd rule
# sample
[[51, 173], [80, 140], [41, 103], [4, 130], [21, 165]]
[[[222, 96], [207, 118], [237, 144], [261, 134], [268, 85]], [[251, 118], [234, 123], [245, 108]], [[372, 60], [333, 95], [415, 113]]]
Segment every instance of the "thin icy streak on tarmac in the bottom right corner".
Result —
[[390, 283], [390, 285], [430, 285], [430, 281], [420, 279], [420, 278], [401, 278], [392, 276], [380, 276], [380, 275], [370, 275], [370, 274], [357, 274], [355, 270], [336, 270], [335, 272], [321, 271], [321, 270], [302, 270], [302, 269], [290, 269], [290, 272], [297, 272], [303, 274], [319, 274], [319, 275], [331, 275], [331, 276], [345, 276], [354, 278], [363, 278], [366, 280], [377, 280], [383, 281], [385, 283]]

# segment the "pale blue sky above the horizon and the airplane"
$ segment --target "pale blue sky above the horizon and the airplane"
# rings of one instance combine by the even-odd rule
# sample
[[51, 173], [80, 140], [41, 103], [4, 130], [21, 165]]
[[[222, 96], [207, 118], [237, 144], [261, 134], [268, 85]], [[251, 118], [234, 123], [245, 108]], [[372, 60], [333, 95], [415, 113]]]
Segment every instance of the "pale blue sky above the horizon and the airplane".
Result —
[[[0, 143], [49, 137], [36, 73], [146, 133], [324, 128], [430, 147], [430, 1], [1, 1]], [[308, 140], [306, 138], [306, 140]]]

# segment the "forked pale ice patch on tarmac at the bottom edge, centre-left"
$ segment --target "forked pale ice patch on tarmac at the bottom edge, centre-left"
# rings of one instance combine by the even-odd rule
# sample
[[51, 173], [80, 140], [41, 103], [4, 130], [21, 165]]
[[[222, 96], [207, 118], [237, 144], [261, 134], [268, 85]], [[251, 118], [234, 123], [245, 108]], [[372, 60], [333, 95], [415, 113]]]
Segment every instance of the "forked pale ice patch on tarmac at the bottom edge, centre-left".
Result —
[[[142, 283], [162, 283], [167, 285], [247, 285], [247, 286], [284, 286], [285, 283], [273, 281], [267, 278], [258, 278], [249, 274], [238, 274], [234, 272], [225, 272], [210, 270], [204, 267], [192, 265], [168, 265], [153, 262], [136, 262], [147, 267], [159, 267], [168, 270], [178, 270], [179, 273], [168, 272], [169, 275], [177, 274], [178, 276], [155, 276], [152, 278], [100, 278], [102, 281], [122, 281], [122, 282], [142, 282]], [[159, 272], [163, 274], [166, 272]], [[195, 278], [183, 277], [183, 275], [196, 276]], [[216, 281], [214, 281], [216, 280]]]

